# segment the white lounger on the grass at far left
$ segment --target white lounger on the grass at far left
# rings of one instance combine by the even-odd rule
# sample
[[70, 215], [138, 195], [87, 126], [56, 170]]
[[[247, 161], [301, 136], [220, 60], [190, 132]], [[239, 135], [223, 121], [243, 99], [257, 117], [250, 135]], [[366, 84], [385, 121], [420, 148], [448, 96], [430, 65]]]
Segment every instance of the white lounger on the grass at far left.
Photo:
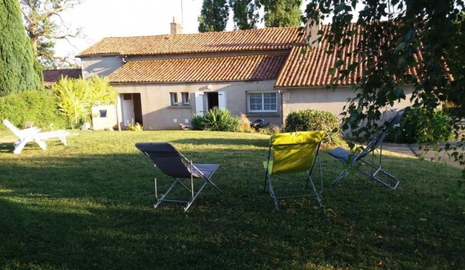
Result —
[[15, 151], [13, 151], [13, 153], [15, 154], [21, 153], [26, 143], [31, 142], [37, 143], [42, 150], [47, 150], [47, 145], [44, 141], [49, 138], [59, 138], [60, 141], [66, 145], [66, 136], [69, 135], [69, 132], [65, 130], [58, 130], [56, 132], [40, 132], [40, 129], [37, 127], [18, 129], [15, 125], [10, 123], [8, 119], [3, 120], [3, 124], [18, 137], [18, 140], [14, 143]]

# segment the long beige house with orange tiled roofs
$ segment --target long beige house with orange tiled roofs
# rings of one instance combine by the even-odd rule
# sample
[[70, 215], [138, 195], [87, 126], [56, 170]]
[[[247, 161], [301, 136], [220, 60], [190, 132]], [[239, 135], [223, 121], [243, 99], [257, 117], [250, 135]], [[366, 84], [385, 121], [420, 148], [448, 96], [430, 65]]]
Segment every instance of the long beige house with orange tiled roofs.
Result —
[[134, 121], [145, 129], [178, 129], [212, 107], [274, 125], [301, 109], [338, 116], [354, 94], [348, 86], [355, 77], [335, 91], [324, 90], [335, 76], [330, 73], [335, 57], [326, 54], [326, 42], [303, 55], [298, 33], [262, 28], [182, 34], [174, 20], [170, 35], [106, 37], [77, 57], [83, 78], [108, 76], [119, 93], [121, 126]]

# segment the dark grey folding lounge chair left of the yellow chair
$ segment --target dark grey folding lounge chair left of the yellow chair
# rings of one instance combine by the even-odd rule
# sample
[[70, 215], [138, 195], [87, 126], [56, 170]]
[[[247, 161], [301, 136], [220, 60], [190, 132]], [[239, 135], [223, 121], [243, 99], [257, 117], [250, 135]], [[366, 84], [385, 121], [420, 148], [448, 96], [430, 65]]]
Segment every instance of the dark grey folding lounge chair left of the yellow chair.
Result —
[[[214, 188], [221, 192], [221, 190], [210, 179], [214, 172], [218, 170], [218, 164], [192, 163], [192, 161], [183, 156], [176, 147], [169, 143], [136, 143], [135, 147], [149, 156], [149, 159], [155, 163], [155, 169], [158, 167], [164, 174], [167, 174], [169, 177], [173, 177], [174, 179], [166, 192], [158, 197], [157, 178], [155, 174], [155, 197], [157, 198], [157, 203], [153, 205], [154, 208], [157, 208], [162, 201], [170, 201], [185, 204], [185, 212], [189, 209], [207, 183], [211, 183]], [[186, 186], [181, 179], [190, 179], [190, 185]], [[196, 191], [194, 191], [194, 179], [202, 179], [204, 181], [200, 188]], [[165, 199], [169, 192], [178, 183], [180, 186], [189, 191], [190, 198], [187, 200]]]

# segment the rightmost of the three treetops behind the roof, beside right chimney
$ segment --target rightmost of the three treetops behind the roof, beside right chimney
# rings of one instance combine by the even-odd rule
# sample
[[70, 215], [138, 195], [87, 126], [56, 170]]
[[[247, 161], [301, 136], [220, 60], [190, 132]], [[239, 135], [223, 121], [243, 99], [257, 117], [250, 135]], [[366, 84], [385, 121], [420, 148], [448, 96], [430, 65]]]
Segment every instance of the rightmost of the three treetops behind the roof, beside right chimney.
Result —
[[294, 27], [301, 24], [300, 0], [260, 0], [267, 27]]

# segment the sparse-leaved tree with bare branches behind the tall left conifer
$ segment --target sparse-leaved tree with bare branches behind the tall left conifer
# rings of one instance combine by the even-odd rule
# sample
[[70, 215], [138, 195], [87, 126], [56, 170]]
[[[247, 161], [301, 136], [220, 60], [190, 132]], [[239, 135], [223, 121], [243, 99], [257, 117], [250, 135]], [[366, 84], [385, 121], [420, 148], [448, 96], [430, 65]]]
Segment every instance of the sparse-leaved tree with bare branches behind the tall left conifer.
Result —
[[81, 3], [81, 0], [18, 0], [24, 17], [26, 33], [40, 64], [75, 64], [65, 57], [55, 56], [57, 39], [78, 37], [81, 29], [71, 31], [60, 13]]

